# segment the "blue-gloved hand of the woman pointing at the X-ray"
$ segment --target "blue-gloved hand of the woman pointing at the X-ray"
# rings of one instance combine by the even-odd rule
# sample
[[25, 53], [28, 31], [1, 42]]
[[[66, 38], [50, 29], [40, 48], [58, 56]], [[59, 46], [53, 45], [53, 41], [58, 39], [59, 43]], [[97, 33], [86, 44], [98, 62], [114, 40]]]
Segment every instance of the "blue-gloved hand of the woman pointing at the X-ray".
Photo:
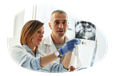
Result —
[[66, 53], [68, 53], [69, 51], [73, 52], [73, 49], [79, 45], [81, 43], [80, 39], [77, 38], [73, 38], [72, 40], [66, 42], [64, 44], [64, 46], [62, 48], [60, 48], [60, 53], [63, 55], [65, 55]]

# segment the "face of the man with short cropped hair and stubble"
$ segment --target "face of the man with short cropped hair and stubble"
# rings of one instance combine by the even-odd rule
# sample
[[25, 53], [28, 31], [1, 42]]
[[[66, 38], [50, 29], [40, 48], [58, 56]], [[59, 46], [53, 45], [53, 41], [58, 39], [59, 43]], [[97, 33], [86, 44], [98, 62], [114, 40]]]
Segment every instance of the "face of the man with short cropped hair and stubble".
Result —
[[68, 29], [67, 16], [64, 13], [54, 13], [51, 17], [49, 27], [53, 36], [63, 37]]

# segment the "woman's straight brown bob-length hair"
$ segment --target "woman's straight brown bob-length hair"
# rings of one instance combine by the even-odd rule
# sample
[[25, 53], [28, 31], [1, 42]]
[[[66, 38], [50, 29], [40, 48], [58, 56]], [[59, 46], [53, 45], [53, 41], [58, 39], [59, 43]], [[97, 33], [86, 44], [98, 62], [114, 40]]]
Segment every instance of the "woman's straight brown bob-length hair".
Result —
[[[37, 32], [37, 30], [43, 26], [44, 23], [38, 21], [38, 20], [30, 20], [23, 26], [21, 30], [20, 35], [20, 43], [21, 45], [27, 44], [29, 41], [31, 41], [34, 34]], [[38, 49], [38, 46], [36, 46]]]

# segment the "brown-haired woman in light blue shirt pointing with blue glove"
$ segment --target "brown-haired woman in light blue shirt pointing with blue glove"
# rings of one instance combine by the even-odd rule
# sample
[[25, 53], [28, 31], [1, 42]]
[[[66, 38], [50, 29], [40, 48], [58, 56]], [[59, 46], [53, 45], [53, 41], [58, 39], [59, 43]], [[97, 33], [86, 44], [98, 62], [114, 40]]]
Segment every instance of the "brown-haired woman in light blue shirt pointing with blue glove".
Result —
[[[11, 50], [13, 59], [24, 70], [41, 70], [42, 72], [68, 72], [72, 57], [74, 44], [78, 44], [76, 39], [72, 39], [64, 44], [56, 52], [45, 55], [39, 52], [44, 33], [43, 23], [37, 20], [28, 21], [22, 28], [20, 43], [21, 46], [14, 46]], [[59, 55], [58, 55], [59, 54]], [[54, 63], [56, 59], [65, 55], [63, 63]]]

